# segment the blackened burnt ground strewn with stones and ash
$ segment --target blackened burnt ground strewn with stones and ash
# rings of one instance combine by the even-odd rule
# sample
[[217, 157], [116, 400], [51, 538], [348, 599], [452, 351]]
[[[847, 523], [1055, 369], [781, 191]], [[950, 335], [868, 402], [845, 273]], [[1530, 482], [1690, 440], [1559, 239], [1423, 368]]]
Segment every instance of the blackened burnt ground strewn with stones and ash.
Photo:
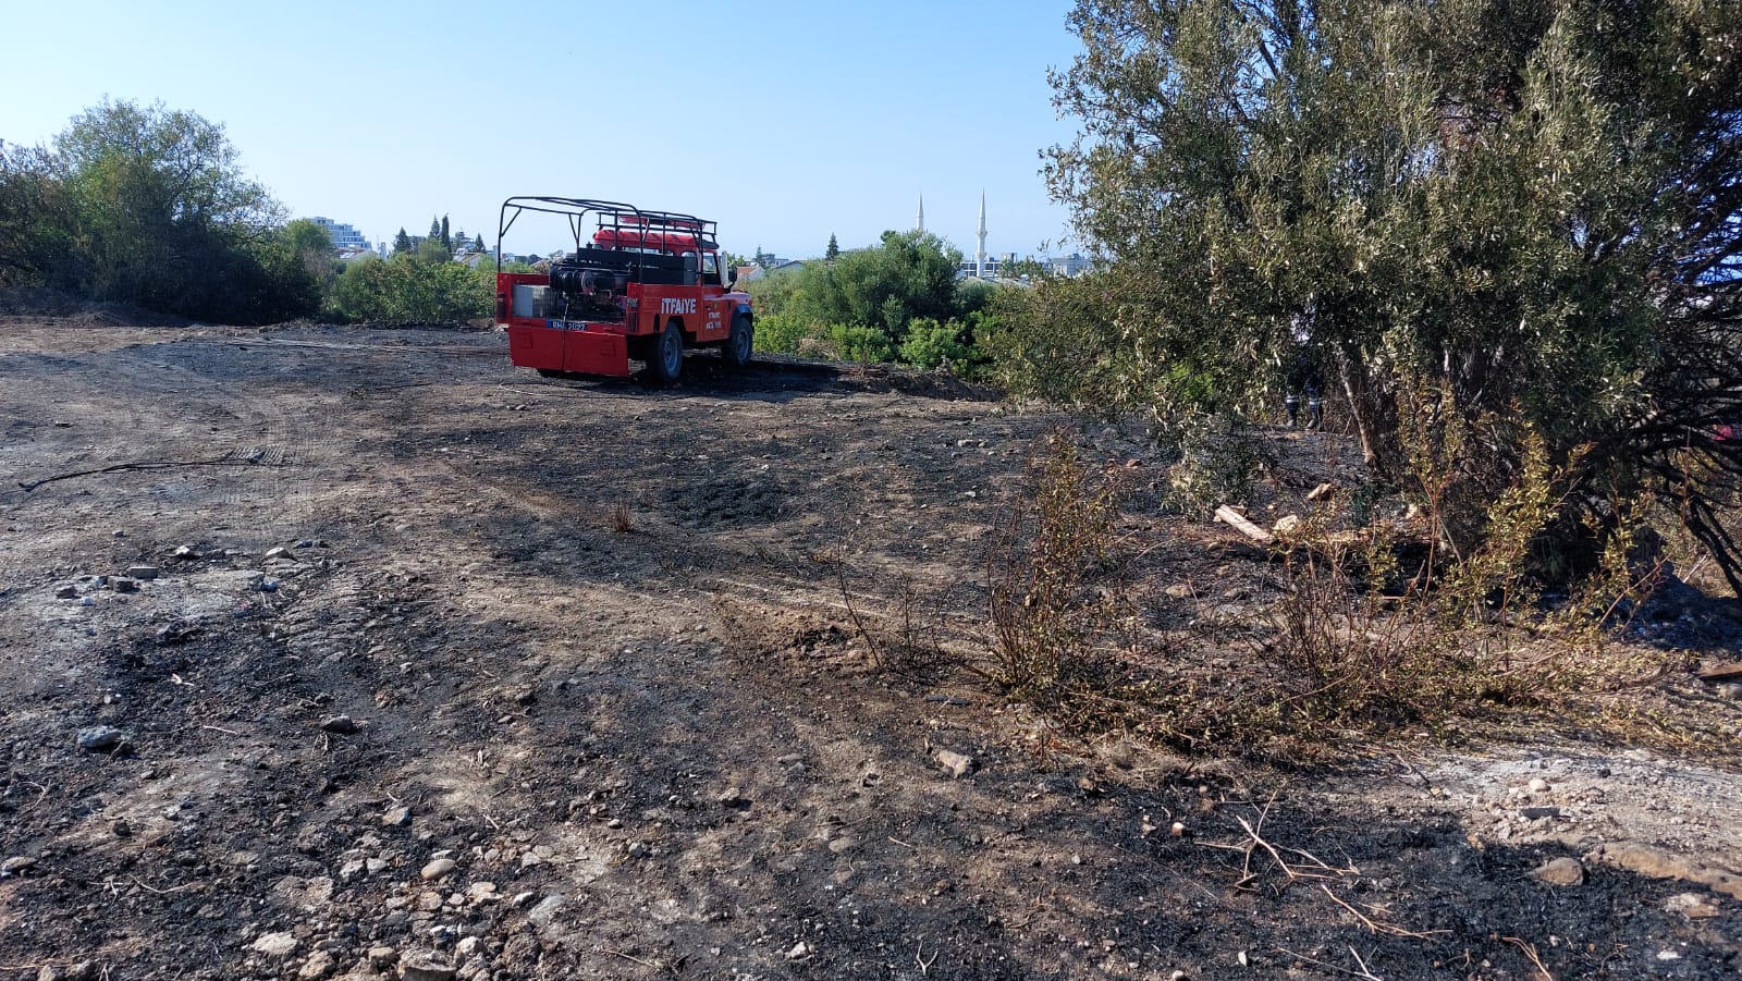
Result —
[[[909, 587], [984, 619], [1061, 425], [706, 355], [544, 382], [491, 331], [0, 322], [0, 978], [1742, 969], [1721, 756], [1554, 732], [1284, 774], [876, 671], [855, 615]], [[1261, 598], [1232, 531], [1167, 521], [1158, 620]]]

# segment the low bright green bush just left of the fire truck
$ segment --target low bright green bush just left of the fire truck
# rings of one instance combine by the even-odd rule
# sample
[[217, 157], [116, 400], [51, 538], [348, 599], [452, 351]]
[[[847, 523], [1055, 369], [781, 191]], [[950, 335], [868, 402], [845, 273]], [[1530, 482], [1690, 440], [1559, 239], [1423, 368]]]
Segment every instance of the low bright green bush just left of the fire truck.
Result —
[[460, 263], [425, 263], [413, 256], [364, 258], [340, 274], [327, 312], [352, 322], [474, 321], [490, 314], [493, 294], [495, 268], [474, 272]]

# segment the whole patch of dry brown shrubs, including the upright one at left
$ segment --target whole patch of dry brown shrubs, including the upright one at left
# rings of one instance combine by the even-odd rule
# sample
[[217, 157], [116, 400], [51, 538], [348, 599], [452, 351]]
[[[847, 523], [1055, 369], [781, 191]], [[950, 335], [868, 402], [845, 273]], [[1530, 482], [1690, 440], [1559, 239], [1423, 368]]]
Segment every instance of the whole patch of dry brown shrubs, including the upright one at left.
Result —
[[1068, 730], [1294, 763], [1350, 737], [1451, 730], [1636, 681], [1660, 666], [1611, 652], [1606, 620], [1655, 570], [1629, 565], [1632, 535], [1615, 533], [1599, 570], [1545, 603], [1533, 556], [1570, 470], [1524, 439], [1521, 469], [1482, 514], [1486, 537], [1467, 545], [1439, 544], [1449, 535], [1432, 509], [1359, 528], [1334, 504], [1310, 514], [1275, 545], [1284, 596], [1268, 629], [1247, 629], [1246, 657], [1211, 667], [1139, 639], [1120, 585], [1118, 486], [1054, 436], [993, 549], [984, 676]]

